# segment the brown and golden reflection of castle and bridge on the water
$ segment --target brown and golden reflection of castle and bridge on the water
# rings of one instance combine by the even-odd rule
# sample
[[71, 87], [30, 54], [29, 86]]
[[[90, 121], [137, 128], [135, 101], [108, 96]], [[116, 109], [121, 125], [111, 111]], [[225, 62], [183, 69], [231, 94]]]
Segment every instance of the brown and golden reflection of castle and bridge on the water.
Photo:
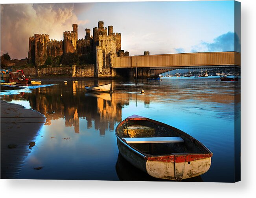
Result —
[[[40, 87], [31, 89], [31, 93], [20, 93], [16, 95], [2, 95], [1, 99], [11, 102], [12, 100], [27, 100], [32, 109], [39, 111], [46, 117], [46, 124], [51, 125], [52, 120], [60, 118], [65, 119], [66, 127], [74, 127], [74, 132], [79, 133], [79, 119], [87, 120], [87, 128], [99, 130], [100, 135], [105, 135], [106, 130], [113, 131], [115, 123], [122, 121], [122, 108], [129, 105], [130, 101], [144, 102], [145, 107], [150, 102], [162, 102], [163, 97], [168, 98], [167, 102], [181, 102], [183, 100], [211, 101], [217, 103], [233, 103], [239, 102], [239, 95], [234, 92], [225, 92], [225, 87], [211, 87], [209, 93], [198, 93], [194, 91], [193, 84], [186, 84], [185, 87], [177, 87], [168, 84], [162, 86], [161, 91], [157, 91], [160, 87], [134, 83], [125, 85], [123, 90], [122, 83], [114, 80], [112, 88], [114, 93], [88, 93], [85, 91], [85, 85], [103, 84], [95, 81], [68, 81], [67, 84], [59, 82], [49, 87]], [[105, 84], [105, 83], [104, 83]], [[140, 94], [141, 87], [147, 90], [146, 94]], [[148, 87], [149, 86], [149, 87]], [[229, 90], [230, 87], [227, 87]], [[238, 100], [235, 99], [237, 96]], [[170, 99], [171, 98], [171, 99]], [[159, 100], [161, 99], [161, 100]], [[92, 122], [94, 121], [94, 122]]]

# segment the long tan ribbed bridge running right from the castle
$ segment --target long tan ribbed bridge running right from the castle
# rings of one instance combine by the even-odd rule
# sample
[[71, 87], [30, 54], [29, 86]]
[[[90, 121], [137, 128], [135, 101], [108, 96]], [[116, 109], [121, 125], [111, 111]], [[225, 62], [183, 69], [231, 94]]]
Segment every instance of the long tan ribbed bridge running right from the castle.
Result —
[[182, 54], [157, 54], [113, 58], [112, 68], [147, 69], [155, 75], [173, 69], [200, 69], [241, 67], [241, 53], [203, 52]]

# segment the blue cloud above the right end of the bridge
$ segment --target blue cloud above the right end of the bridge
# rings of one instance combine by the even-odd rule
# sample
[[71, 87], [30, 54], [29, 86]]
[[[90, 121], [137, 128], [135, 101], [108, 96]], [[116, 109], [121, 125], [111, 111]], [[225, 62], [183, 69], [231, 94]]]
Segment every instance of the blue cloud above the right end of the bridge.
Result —
[[237, 51], [241, 52], [240, 39], [236, 33], [228, 32], [214, 39], [214, 42], [201, 42], [192, 46], [191, 52], [216, 52]]

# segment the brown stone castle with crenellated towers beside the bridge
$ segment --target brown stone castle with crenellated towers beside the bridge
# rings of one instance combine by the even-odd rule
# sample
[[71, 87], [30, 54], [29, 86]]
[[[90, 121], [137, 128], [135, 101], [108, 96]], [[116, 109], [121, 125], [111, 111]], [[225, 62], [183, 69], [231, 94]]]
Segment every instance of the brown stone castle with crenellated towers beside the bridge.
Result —
[[[50, 40], [47, 34], [35, 34], [29, 37], [28, 63], [37, 67], [44, 65], [48, 57], [68, 57], [73, 53], [78, 57], [90, 57], [90, 64], [94, 64], [95, 77], [113, 77], [112, 58], [129, 56], [129, 52], [121, 50], [121, 34], [113, 33], [113, 26], [104, 27], [104, 22], [99, 21], [98, 27], [85, 29], [85, 38], [77, 36], [77, 24], [73, 24], [73, 31], [63, 33], [63, 41]], [[89, 62], [88, 62], [89, 63]]]

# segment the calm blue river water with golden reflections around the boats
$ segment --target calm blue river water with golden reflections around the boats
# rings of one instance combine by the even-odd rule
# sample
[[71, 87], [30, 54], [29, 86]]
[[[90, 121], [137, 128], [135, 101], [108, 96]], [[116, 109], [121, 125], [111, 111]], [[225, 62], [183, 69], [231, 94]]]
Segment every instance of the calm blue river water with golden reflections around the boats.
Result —
[[[114, 129], [124, 118], [137, 114], [176, 127], [212, 151], [209, 171], [183, 181], [234, 181], [240, 82], [221, 82], [210, 76], [139, 80], [137, 84], [133, 80], [91, 79], [64, 83], [63, 79], [42, 79], [42, 85], [1, 92], [1, 100], [46, 116], [47, 123], [39, 131], [18, 178], [157, 181], [126, 162], [118, 151]], [[109, 82], [112, 94], [85, 90], [85, 85]]]

